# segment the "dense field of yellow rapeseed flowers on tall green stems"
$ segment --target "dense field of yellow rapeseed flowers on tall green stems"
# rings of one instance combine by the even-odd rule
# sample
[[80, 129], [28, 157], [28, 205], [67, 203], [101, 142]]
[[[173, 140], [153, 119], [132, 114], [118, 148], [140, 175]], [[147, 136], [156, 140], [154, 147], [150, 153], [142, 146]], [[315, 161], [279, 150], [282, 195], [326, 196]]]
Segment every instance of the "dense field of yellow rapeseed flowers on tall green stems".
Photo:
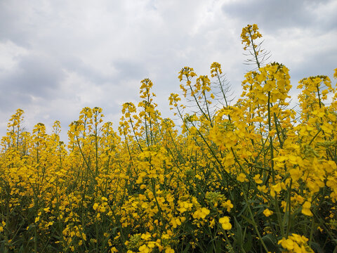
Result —
[[209, 75], [180, 70], [174, 119], [161, 116], [150, 79], [116, 129], [86, 107], [67, 143], [60, 122], [27, 131], [18, 109], [1, 139], [0, 249], [333, 252], [336, 86], [303, 78], [291, 108], [289, 70], [259, 60], [261, 37], [257, 25], [242, 30], [256, 66], [236, 102], [212, 63]]

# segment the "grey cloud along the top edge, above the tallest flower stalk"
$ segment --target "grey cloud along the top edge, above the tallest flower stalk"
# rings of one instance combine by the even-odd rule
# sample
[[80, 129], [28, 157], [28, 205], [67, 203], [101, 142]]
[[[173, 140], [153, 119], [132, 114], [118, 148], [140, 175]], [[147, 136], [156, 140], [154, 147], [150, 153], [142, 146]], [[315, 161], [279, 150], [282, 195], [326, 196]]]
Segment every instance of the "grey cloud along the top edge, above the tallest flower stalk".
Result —
[[322, 18], [324, 14], [316, 12], [317, 8], [328, 6], [332, 2], [332, 0], [232, 1], [223, 4], [222, 9], [225, 15], [240, 20], [243, 25], [263, 24], [263, 29], [272, 33], [286, 27], [301, 29], [315, 27], [315, 30], [322, 32], [337, 29], [336, 16], [327, 15], [328, 18]]

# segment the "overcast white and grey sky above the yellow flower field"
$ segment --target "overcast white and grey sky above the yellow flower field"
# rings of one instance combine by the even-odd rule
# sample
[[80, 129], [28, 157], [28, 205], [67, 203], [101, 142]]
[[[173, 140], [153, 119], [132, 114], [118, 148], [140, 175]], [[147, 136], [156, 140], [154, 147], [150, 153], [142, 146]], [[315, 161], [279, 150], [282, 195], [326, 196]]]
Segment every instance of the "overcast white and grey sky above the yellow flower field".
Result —
[[18, 108], [28, 130], [42, 122], [50, 132], [60, 120], [63, 138], [86, 106], [103, 108], [117, 127], [144, 78], [171, 116], [168, 97], [179, 92], [184, 66], [209, 74], [220, 63], [239, 96], [247, 24], [258, 24], [270, 60], [290, 69], [293, 86], [317, 74], [332, 79], [336, 13], [336, 0], [0, 0], [0, 136]]

